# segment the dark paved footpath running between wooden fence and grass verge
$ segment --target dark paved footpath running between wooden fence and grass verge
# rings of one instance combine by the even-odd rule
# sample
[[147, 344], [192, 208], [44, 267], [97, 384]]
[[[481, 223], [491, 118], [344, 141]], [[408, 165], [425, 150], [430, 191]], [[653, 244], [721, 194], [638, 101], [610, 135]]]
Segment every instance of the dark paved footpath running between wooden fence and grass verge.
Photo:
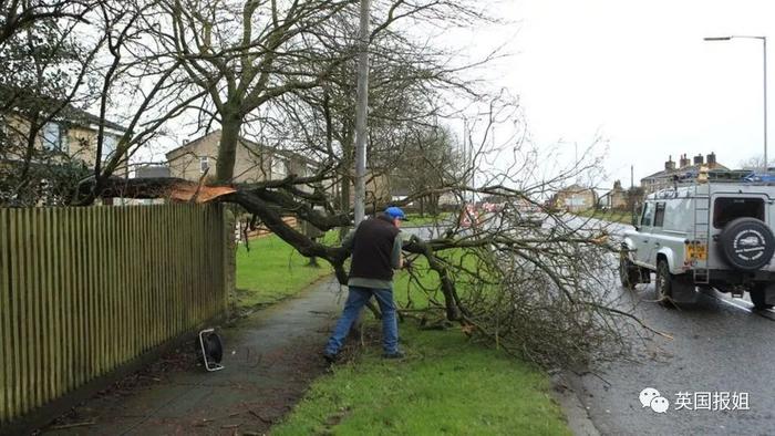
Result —
[[[185, 368], [152, 371], [127, 392], [114, 386], [44, 434], [260, 435], [326, 371], [320, 351], [339, 295], [335, 280], [324, 279], [224, 330], [225, 370], [207, 373], [193, 351], [183, 353]], [[85, 425], [62, 428], [73, 424]]]

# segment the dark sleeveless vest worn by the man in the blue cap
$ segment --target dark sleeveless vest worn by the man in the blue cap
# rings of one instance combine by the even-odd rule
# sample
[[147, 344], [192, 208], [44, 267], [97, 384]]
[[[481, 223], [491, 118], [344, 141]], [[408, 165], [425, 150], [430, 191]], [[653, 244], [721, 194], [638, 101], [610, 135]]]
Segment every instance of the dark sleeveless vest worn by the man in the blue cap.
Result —
[[355, 230], [350, 278], [393, 280], [391, 253], [399, 231], [384, 215], [362, 221]]

